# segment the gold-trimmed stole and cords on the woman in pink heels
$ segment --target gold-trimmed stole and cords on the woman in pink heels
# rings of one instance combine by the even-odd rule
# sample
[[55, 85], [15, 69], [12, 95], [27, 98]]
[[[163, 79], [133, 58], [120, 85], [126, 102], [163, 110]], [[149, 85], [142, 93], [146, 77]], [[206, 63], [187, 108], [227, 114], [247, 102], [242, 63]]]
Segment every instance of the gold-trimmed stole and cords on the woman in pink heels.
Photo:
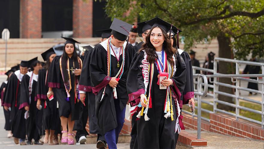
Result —
[[[69, 81], [68, 83], [65, 83], [64, 81], [64, 77], [63, 77], [63, 71], [62, 71], [62, 66], [61, 66], [61, 58], [62, 56], [60, 57], [60, 72], [61, 72], [61, 76], [62, 76], [62, 79], [63, 79], [63, 84], [64, 84], [64, 87], [65, 87], [65, 90], [66, 90], [66, 93], [67, 93], [67, 98], [65, 99], [66, 101], [70, 101], [70, 91], [72, 89], [72, 80], [71, 80], [71, 76], [70, 76], [70, 64], [69, 64], [69, 58], [67, 57], [67, 72], [68, 72], [68, 76], [69, 76]], [[77, 57], [77, 61], [78, 61], [78, 64], [79, 64], [79, 68], [82, 69], [82, 60]], [[73, 61], [73, 67], [74, 67], [74, 61]], [[78, 86], [79, 86], [79, 80], [77, 78], [77, 76], [74, 76], [75, 77], [75, 82], [74, 82], [74, 93], [75, 93], [75, 96], [74, 96], [74, 103], [76, 103], [76, 98], [79, 99], [79, 91], [78, 91]], [[78, 85], [78, 86], [77, 86]]]

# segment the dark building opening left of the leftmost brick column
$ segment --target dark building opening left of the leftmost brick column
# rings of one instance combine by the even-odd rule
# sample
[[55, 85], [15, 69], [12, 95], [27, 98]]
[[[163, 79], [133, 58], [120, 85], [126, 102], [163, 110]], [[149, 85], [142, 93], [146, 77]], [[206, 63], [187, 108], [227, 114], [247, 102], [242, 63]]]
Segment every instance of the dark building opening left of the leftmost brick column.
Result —
[[0, 38], [4, 28], [10, 31], [10, 38], [19, 38], [19, 4], [20, 0], [0, 1]]

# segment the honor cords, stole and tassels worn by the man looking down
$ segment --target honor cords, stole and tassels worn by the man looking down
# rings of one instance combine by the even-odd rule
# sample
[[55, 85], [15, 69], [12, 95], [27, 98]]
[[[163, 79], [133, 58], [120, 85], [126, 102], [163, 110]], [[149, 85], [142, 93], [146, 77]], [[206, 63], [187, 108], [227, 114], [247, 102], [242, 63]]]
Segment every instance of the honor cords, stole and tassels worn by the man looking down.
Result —
[[[111, 51], [110, 51], [110, 43], [111, 43], [111, 38], [108, 38], [107, 39], [107, 76], [108, 77], [111, 76]], [[124, 45], [121, 46], [120, 48], [121, 48], [121, 51], [122, 51], [123, 61], [122, 61], [122, 64], [121, 64], [121, 67], [120, 67], [119, 71], [117, 72], [117, 74], [115, 76], [117, 81], [119, 81], [120, 78], [122, 77], [123, 72], [124, 72], [124, 67], [125, 67], [125, 48], [124, 48]], [[120, 56], [119, 56], [119, 59], [120, 59]], [[102, 95], [100, 101], [102, 101], [102, 99], [104, 97], [105, 89], [106, 89], [106, 86], [104, 87], [103, 95]], [[113, 88], [113, 96], [114, 96], [115, 99], [117, 99], [116, 88]]]

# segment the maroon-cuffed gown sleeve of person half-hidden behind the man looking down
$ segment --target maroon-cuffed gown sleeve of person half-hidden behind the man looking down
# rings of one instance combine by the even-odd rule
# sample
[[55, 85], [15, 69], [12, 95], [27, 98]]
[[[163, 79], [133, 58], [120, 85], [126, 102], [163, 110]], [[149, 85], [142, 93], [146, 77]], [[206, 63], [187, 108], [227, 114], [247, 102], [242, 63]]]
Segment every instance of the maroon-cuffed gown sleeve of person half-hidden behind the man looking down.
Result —
[[89, 69], [91, 54], [92, 54], [92, 49], [86, 53], [85, 58], [83, 60], [83, 67], [82, 67], [80, 83], [79, 83], [80, 91], [86, 91], [86, 92], [92, 91], [91, 79], [90, 79], [90, 69]]

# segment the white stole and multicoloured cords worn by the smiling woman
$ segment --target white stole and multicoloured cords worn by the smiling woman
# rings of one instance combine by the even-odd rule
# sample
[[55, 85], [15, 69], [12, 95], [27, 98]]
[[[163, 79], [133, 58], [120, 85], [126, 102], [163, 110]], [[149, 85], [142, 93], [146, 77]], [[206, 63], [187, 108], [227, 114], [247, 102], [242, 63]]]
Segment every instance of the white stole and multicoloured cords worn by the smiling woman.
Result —
[[[164, 52], [165, 53], [165, 52]], [[164, 56], [167, 56], [166, 53], [164, 54]], [[141, 103], [139, 103], [137, 106], [140, 108], [142, 107], [141, 111], [139, 112], [139, 114], [136, 116], [137, 118], [140, 119], [141, 116], [143, 116], [143, 114], [145, 114], [144, 119], [145, 121], [148, 121], [150, 118], [148, 118], [147, 113], [148, 113], [148, 108], [152, 108], [152, 101], [151, 101], [151, 87], [152, 87], [152, 81], [153, 81], [153, 75], [154, 75], [154, 63], [148, 64], [148, 73], [146, 72], [146, 66], [144, 66], [144, 63], [147, 61], [147, 55], [145, 53], [144, 59], [142, 60], [142, 64], [140, 65], [140, 67], [143, 67], [142, 69], [142, 75], [144, 77], [144, 84], [145, 84], [145, 96], [147, 97], [147, 102], [145, 102], [147, 104], [147, 107], [144, 110], [144, 107], [141, 105]], [[156, 63], [157, 63], [157, 71], [160, 72], [161, 70], [163, 71], [167, 71], [169, 73], [169, 78], [171, 78], [174, 74], [174, 69], [173, 66], [169, 63], [169, 61], [167, 60], [167, 58], [164, 59], [165, 65], [163, 65], [163, 67], [160, 68], [160, 65], [157, 63], [157, 59], [156, 59]], [[150, 72], [150, 74], [149, 74]], [[148, 86], [148, 81], [146, 81], [148, 79], [148, 77], [150, 75], [150, 86], [149, 86], [149, 91], [148, 91], [148, 96], [146, 94], [146, 89]], [[171, 117], [172, 121], [174, 120], [173, 118], [173, 101], [172, 101], [172, 90], [170, 89], [170, 87], [167, 87], [166, 89], [166, 98], [165, 98], [165, 103], [164, 103], [164, 117], [167, 119], [168, 117]], [[136, 106], [134, 106], [136, 108]], [[134, 108], [131, 107], [131, 110]], [[133, 110], [135, 111], [135, 110]], [[132, 112], [132, 111], [131, 111]]]

